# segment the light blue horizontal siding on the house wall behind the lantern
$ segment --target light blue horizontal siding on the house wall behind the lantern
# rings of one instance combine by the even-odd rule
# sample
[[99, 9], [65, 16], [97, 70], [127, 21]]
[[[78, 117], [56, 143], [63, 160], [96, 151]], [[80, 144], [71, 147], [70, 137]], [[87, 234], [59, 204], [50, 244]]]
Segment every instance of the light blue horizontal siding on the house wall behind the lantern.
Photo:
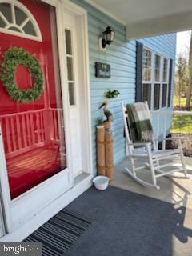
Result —
[[[114, 135], [114, 165], [118, 164], [125, 157], [125, 138], [123, 137], [123, 122], [121, 103], [134, 102], [135, 97], [135, 52], [136, 42], [126, 42], [126, 27], [108, 17], [101, 11], [90, 6], [84, 0], [71, 0], [82, 6], [88, 13], [88, 33], [90, 51], [90, 104], [91, 104], [91, 134], [93, 146], [93, 165], [96, 174], [96, 119], [103, 116], [98, 106], [103, 102], [103, 94], [107, 89], [117, 89], [120, 95], [109, 103], [109, 109], [114, 114], [114, 122], [111, 129]], [[115, 38], [105, 52], [98, 51], [98, 36], [111, 26], [115, 30]], [[159, 38], [159, 41], [158, 41]], [[174, 36], [160, 36], [158, 38], [142, 39], [148, 47], [162, 50], [162, 53], [169, 54], [170, 46]], [[168, 49], [165, 49], [165, 40]], [[164, 45], [164, 47], [163, 47]], [[163, 51], [165, 50], [165, 51]], [[170, 50], [174, 58], [174, 50]], [[167, 56], [169, 57], [169, 56]], [[95, 78], [94, 63], [107, 62], [111, 65], [111, 78]]]

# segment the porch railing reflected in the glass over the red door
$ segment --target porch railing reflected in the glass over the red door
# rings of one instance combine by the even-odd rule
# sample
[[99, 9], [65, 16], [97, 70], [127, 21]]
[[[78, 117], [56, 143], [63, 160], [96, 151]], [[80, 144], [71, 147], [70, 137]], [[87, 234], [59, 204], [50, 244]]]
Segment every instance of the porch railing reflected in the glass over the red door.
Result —
[[58, 142], [63, 134], [62, 123], [62, 109], [0, 115], [6, 158], [48, 145], [50, 142]]

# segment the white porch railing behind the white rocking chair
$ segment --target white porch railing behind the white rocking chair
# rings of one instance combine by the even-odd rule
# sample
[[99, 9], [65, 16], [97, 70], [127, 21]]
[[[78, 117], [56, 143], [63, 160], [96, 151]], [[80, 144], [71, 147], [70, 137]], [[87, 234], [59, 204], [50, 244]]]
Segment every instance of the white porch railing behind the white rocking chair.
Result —
[[[150, 114], [154, 125], [154, 137], [159, 139], [159, 142], [169, 133], [173, 137], [184, 137], [182, 141], [184, 154], [192, 157], [192, 111], [159, 110], [150, 111]], [[162, 149], [165, 148], [166, 141], [163, 141]]]

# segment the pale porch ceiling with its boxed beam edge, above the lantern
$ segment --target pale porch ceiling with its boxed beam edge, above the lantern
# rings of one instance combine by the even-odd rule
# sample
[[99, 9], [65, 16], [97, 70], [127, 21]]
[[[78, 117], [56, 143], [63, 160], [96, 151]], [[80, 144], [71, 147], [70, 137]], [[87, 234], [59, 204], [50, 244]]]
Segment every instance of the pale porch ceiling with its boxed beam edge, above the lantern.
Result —
[[126, 25], [127, 40], [192, 29], [191, 0], [86, 0]]

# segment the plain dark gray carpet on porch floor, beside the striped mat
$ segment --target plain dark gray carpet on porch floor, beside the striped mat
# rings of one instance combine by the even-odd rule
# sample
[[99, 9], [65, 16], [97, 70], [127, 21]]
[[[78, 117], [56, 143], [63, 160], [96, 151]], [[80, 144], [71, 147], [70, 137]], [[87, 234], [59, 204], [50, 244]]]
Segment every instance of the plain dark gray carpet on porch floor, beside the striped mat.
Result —
[[68, 209], [94, 222], [65, 256], [192, 256], [192, 210], [113, 186], [86, 190]]

